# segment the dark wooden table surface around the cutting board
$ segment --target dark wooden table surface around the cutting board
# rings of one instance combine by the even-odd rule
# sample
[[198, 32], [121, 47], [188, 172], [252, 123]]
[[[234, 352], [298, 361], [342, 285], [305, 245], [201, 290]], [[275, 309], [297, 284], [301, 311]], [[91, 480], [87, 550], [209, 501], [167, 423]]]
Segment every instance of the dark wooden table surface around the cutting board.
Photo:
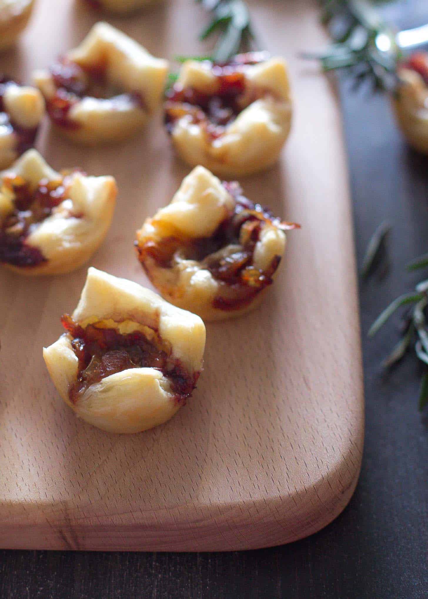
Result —
[[[426, 0], [401, 0], [384, 11], [403, 27], [428, 22]], [[343, 80], [340, 89], [359, 262], [375, 226], [393, 223], [387, 276], [360, 286], [366, 443], [351, 503], [320, 533], [273, 549], [0, 551], [1, 598], [428, 596], [428, 414], [417, 411], [420, 367], [409, 356], [382, 376], [379, 362], [397, 330], [391, 323], [375, 340], [366, 337], [379, 310], [417, 282], [406, 262], [428, 251], [428, 158], [403, 143], [386, 98], [355, 95]]]

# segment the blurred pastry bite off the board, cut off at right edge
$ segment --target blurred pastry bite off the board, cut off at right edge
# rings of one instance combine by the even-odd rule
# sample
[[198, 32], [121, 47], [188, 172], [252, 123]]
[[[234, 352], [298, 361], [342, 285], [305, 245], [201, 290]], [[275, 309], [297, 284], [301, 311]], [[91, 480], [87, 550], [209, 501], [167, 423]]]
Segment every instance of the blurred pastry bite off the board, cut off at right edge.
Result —
[[397, 124], [412, 147], [428, 154], [428, 54], [412, 55], [397, 75], [400, 83], [392, 98]]

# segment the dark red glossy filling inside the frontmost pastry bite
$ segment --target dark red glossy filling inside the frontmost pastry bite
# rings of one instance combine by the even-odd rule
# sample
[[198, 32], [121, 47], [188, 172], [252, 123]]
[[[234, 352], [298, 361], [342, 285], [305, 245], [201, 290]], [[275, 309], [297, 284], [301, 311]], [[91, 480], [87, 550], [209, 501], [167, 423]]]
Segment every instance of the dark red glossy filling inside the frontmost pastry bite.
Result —
[[199, 373], [188, 373], [171, 352], [159, 349], [139, 331], [122, 335], [117, 329], [100, 327], [100, 323], [82, 328], [68, 314], [61, 322], [73, 337], [71, 347], [79, 361], [76, 383], [69, 389], [72, 403], [79, 401], [91, 385], [128, 368], [159, 370], [170, 380], [174, 400], [180, 404], [195, 388]]

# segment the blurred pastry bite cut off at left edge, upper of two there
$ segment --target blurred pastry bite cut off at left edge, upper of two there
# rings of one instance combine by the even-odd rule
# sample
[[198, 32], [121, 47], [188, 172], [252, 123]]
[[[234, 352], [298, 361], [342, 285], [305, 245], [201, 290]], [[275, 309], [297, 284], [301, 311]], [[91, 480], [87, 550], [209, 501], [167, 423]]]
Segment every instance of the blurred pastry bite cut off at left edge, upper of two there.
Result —
[[43, 116], [44, 100], [38, 89], [0, 75], [0, 170], [34, 145]]

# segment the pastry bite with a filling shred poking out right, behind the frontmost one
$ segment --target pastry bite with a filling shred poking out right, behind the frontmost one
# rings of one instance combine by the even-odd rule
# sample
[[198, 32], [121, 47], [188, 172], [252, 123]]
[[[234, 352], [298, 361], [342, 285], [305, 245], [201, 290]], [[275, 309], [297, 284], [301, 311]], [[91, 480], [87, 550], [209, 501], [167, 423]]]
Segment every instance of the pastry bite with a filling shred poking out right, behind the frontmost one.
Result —
[[162, 297], [204, 320], [256, 307], [273, 282], [287, 229], [239, 184], [198, 166], [137, 231], [138, 259]]

